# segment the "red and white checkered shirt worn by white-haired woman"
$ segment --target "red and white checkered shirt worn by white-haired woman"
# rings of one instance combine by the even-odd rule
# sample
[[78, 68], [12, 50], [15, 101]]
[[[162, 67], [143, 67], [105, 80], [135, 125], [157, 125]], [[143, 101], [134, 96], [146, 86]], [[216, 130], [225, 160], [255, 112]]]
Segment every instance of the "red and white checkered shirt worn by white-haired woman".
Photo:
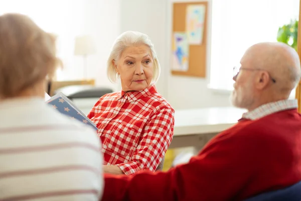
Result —
[[88, 117], [103, 143], [105, 165], [124, 174], [155, 171], [174, 135], [175, 111], [154, 85], [102, 96]]

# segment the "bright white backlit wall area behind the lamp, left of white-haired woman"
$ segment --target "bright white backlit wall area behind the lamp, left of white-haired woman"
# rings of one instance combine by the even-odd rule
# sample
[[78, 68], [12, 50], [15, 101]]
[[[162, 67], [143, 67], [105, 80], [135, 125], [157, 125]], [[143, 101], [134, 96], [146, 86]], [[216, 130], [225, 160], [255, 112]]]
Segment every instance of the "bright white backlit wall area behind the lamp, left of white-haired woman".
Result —
[[47, 32], [58, 36], [59, 56], [64, 62], [59, 79], [83, 79], [83, 58], [74, 56], [74, 39], [89, 34], [95, 40], [97, 53], [87, 59], [88, 76], [97, 85], [117, 89], [106, 77], [106, 60], [120, 33], [120, 0], [0, 0], [0, 15], [28, 15]]

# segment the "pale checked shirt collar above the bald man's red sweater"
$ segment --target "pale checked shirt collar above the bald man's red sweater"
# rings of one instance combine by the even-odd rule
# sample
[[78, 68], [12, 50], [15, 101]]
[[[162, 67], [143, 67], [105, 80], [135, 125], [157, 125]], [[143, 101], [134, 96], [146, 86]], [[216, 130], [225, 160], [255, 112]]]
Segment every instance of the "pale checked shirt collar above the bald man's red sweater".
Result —
[[298, 102], [296, 99], [286, 99], [279, 100], [277, 102], [272, 102], [264, 104], [255, 110], [244, 113], [242, 119], [256, 120], [272, 113], [276, 113], [283, 110], [296, 109], [298, 107]]

